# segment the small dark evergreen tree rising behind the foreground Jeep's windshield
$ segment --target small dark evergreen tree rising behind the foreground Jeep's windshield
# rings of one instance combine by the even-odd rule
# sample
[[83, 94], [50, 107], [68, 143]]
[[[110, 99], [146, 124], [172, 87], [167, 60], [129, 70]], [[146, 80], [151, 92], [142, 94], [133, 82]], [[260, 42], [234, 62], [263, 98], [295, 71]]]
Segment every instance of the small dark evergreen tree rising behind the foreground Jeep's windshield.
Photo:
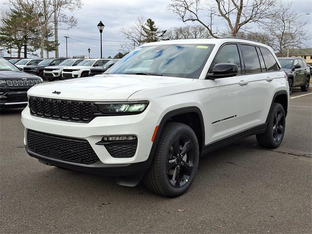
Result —
[[142, 36], [144, 37], [144, 42], [146, 43], [160, 40], [167, 31], [159, 30], [152, 19], [147, 19], [146, 23], [142, 25], [142, 29]]

